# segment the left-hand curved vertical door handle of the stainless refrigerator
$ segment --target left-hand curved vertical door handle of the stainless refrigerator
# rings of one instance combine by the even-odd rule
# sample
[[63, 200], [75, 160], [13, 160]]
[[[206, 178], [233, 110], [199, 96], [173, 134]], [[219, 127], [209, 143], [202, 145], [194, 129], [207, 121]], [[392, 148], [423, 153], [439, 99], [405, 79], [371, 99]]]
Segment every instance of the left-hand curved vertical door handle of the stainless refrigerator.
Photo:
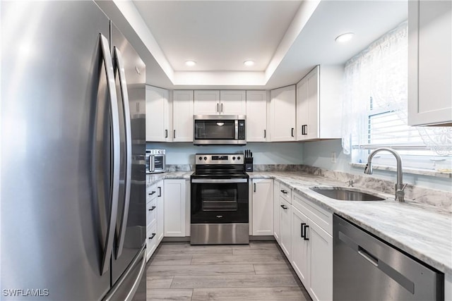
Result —
[[112, 257], [114, 230], [118, 213], [118, 197], [119, 197], [119, 163], [120, 163], [120, 133], [119, 133], [119, 110], [116, 94], [116, 83], [114, 80], [114, 69], [112, 55], [110, 54], [109, 44], [106, 37], [100, 34], [100, 46], [105, 64], [105, 73], [107, 73], [107, 91], [110, 100], [110, 118], [112, 121], [112, 177], [110, 180], [110, 210], [109, 225], [107, 228], [107, 239], [105, 240], [104, 254], [102, 256], [102, 264], [100, 274], [103, 275], [109, 269], [110, 258]]

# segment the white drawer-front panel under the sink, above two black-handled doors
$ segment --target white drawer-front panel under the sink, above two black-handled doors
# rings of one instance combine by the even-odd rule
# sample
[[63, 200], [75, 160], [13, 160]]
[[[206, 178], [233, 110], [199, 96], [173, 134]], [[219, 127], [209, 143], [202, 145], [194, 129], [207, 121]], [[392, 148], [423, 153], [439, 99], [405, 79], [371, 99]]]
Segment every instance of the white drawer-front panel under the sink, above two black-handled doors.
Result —
[[326, 233], [333, 235], [333, 214], [296, 192], [292, 195], [292, 205], [299, 209], [299, 211], [302, 211], [303, 214], [319, 225]]

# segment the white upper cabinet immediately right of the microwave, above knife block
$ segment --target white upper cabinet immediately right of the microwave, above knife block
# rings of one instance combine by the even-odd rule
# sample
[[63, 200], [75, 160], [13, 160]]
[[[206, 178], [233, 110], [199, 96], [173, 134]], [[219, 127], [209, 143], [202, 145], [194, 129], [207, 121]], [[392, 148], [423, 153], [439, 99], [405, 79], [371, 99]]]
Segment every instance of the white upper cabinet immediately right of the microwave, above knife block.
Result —
[[246, 141], [267, 141], [266, 91], [246, 91]]

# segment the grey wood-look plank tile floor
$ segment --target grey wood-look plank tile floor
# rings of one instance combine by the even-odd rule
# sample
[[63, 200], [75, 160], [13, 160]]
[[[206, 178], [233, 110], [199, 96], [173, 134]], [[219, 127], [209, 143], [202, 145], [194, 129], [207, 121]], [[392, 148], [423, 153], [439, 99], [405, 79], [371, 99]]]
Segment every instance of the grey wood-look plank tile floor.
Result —
[[146, 281], [147, 301], [311, 300], [276, 242], [162, 242]]

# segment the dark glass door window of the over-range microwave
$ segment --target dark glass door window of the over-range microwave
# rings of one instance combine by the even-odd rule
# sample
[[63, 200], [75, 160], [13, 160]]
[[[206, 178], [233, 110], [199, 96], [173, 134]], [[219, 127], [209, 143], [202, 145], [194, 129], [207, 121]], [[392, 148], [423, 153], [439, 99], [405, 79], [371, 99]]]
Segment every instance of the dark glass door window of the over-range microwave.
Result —
[[234, 140], [234, 120], [196, 120], [196, 140]]

